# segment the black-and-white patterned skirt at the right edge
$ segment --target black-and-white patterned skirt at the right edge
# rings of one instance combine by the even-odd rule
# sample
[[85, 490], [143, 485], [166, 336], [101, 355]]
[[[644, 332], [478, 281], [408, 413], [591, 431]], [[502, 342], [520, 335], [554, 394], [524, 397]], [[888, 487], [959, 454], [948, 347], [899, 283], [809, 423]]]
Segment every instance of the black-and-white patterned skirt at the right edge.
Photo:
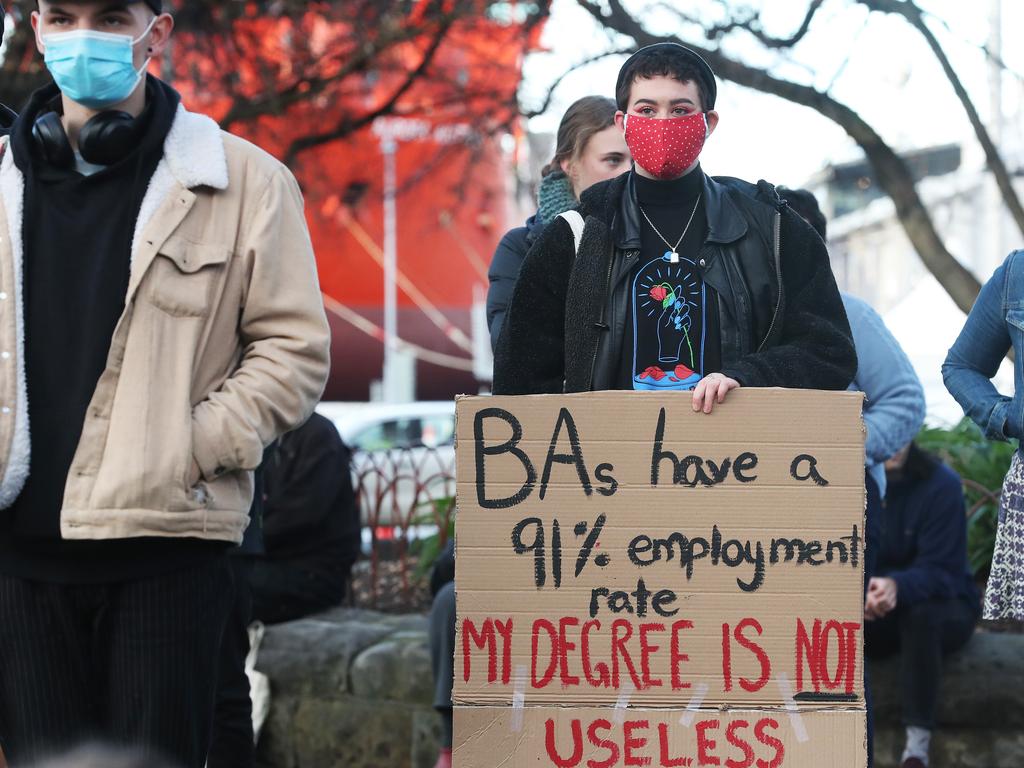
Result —
[[1024, 621], [1024, 461], [1020, 452], [1014, 454], [1002, 482], [984, 617]]

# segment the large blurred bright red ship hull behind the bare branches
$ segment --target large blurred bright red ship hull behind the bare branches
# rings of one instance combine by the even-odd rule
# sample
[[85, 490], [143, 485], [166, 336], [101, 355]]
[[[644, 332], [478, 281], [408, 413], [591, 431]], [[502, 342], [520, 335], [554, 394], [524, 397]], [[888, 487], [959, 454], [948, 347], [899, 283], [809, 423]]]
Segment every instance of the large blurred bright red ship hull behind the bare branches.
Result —
[[423, 34], [351, 75], [338, 77], [370, 43], [342, 20], [352, 13], [314, 7], [237, 22], [231, 44], [251, 47], [244, 58], [260, 66], [232, 79], [207, 71], [216, 50], [202, 32], [179, 36], [172, 68], [185, 102], [218, 120], [246, 109], [239, 93], [258, 101], [295, 80], [299, 58], [312, 73], [299, 78], [308, 96], [280, 93], [284, 114], [236, 130], [283, 158], [302, 186], [333, 331], [328, 400], [450, 399], [490, 378], [487, 266], [518, 223], [510, 201], [521, 141], [509, 131], [542, 25], [516, 3], [480, 2], [435, 41], [418, 19], [430, 3], [403, 5], [397, 23]]

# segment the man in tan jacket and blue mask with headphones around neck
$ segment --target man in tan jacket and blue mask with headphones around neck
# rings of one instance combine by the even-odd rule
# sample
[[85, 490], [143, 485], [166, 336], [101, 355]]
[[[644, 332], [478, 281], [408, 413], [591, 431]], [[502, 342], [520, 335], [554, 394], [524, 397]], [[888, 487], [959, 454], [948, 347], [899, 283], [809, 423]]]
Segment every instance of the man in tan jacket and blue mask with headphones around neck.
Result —
[[0, 139], [0, 742], [203, 766], [263, 447], [329, 331], [291, 173], [144, 76], [160, 0], [40, 0]]

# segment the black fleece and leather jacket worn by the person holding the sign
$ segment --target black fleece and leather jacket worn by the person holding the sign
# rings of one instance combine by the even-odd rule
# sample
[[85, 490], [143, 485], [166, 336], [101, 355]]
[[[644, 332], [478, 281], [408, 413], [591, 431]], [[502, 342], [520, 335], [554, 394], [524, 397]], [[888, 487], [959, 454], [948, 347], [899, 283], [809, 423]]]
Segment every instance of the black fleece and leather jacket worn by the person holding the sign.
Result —
[[[640, 253], [633, 174], [595, 184], [523, 261], [495, 352], [495, 394], [612, 389]], [[748, 387], [846, 389], [857, 370], [825, 245], [771, 184], [705, 177], [697, 257], [718, 295], [722, 373]]]

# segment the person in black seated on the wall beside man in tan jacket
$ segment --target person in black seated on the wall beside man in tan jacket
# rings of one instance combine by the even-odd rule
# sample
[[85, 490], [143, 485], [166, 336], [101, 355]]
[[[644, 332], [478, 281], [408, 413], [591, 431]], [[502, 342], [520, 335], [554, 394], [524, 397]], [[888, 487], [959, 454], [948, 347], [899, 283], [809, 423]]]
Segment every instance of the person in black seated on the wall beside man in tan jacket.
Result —
[[265, 624], [339, 605], [359, 554], [350, 452], [313, 414], [284, 435], [263, 465], [263, 546], [249, 571], [252, 615]]

